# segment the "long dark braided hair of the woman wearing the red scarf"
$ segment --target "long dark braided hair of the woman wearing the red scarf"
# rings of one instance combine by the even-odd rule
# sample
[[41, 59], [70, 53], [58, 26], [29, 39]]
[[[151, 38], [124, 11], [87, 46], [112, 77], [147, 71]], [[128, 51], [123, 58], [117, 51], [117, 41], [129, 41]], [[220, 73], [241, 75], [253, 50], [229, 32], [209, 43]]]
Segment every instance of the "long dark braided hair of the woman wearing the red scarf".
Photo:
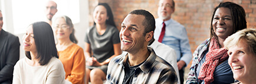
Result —
[[[212, 14], [212, 21], [214, 20], [214, 15], [216, 10], [221, 7], [228, 8], [231, 11], [233, 28], [234, 28], [233, 33], [247, 28], [244, 8], [242, 8], [242, 6], [235, 4], [233, 2], [221, 2], [218, 6], [216, 6], [216, 8], [214, 9], [214, 13]], [[211, 39], [218, 38], [218, 36], [216, 36], [216, 34], [214, 33], [212, 21], [211, 21]], [[209, 41], [211, 41], [211, 39]]]

